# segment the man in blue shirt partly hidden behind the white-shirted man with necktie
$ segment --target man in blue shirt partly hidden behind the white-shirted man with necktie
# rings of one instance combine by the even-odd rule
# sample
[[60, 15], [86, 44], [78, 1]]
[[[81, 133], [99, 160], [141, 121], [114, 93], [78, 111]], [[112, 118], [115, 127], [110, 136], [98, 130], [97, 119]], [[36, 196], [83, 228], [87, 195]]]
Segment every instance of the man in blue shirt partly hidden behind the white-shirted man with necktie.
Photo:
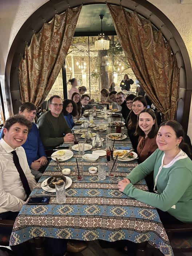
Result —
[[[36, 124], [33, 123], [36, 112], [36, 106], [30, 102], [25, 102], [19, 107], [19, 113], [24, 115], [32, 123], [32, 129], [28, 133], [27, 140], [22, 147], [25, 150], [31, 173], [35, 176], [36, 181], [38, 181], [47, 165], [47, 156], [39, 136], [39, 130]], [[0, 133], [0, 139], [2, 134], [3, 129]]]

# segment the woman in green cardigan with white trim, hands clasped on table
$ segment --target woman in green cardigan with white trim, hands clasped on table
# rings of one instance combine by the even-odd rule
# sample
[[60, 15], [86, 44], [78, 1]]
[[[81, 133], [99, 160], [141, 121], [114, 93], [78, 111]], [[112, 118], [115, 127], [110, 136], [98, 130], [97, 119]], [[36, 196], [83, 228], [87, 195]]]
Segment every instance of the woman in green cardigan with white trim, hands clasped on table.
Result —
[[[183, 135], [177, 121], [162, 123], [156, 138], [159, 149], [118, 183], [119, 191], [156, 207], [163, 224], [192, 223], [192, 161]], [[154, 193], [134, 187], [153, 170]]]

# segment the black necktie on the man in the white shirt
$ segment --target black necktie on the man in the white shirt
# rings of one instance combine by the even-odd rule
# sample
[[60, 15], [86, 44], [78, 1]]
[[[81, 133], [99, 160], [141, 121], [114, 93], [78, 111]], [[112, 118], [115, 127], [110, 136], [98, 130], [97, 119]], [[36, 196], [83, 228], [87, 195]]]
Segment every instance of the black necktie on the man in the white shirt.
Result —
[[21, 168], [21, 165], [19, 163], [19, 157], [17, 156], [16, 151], [14, 150], [11, 153], [13, 154], [13, 162], [15, 164], [15, 167], [17, 168], [17, 171], [19, 172], [21, 182], [23, 184], [23, 187], [25, 189], [25, 193], [26, 193], [27, 198], [28, 198], [29, 195], [31, 194], [31, 189], [29, 188], [29, 183], [27, 181], [25, 173], [23, 172], [23, 169]]

